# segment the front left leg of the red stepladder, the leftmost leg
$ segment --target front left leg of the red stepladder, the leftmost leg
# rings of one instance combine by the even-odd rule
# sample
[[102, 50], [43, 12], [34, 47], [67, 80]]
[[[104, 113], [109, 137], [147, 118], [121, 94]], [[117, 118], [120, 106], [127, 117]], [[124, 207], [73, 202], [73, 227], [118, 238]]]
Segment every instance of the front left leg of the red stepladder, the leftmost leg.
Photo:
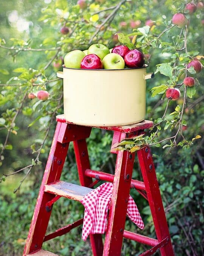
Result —
[[59, 180], [69, 146], [69, 143], [58, 142], [59, 134], [62, 135], [62, 126], [65, 127], [66, 124], [57, 123], [23, 255], [42, 248], [51, 215], [51, 210], [46, 211], [46, 203], [55, 197], [44, 192], [44, 185]]

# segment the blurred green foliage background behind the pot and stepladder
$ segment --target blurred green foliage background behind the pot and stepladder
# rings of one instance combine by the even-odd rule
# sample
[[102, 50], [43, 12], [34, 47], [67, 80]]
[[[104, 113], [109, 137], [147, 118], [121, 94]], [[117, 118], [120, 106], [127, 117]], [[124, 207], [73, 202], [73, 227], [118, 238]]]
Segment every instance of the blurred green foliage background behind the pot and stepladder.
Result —
[[[184, 86], [179, 85], [185, 74], [179, 70], [185, 68], [185, 64], [190, 59], [197, 55], [203, 55], [204, 52], [203, 25], [201, 23], [201, 20], [204, 19], [203, 9], [197, 9], [191, 16], [186, 14], [190, 25], [186, 40], [188, 53], [185, 53], [185, 50], [178, 51], [184, 45], [184, 30], [181, 31], [181, 29], [173, 27], [165, 31], [161, 37], [158, 38], [158, 35], [166, 28], [170, 28], [173, 14], [184, 11], [185, 4], [190, 1], [122, 1], [123, 4], [116, 15], [110, 17], [110, 20], [105, 23], [106, 29], [99, 30], [95, 37], [93, 35], [97, 31], [97, 25], [101, 25], [107, 15], [113, 11], [111, 7], [119, 6], [121, 2], [110, 0], [98, 4], [94, 1], [87, 1], [88, 8], [83, 11], [76, 5], [76, 2], [76, 0], [36, 0], [34, 2], [31, 0], [8, 0], [1, 5], [1, 147], [5, 143], [8, 130], [11, 132], [0, 159], [0, 176], [2, 176], [0, 184], [0, 255], [22, 255], [54, 133], [55, 122], [51, 123], [52, 116], [63, 113], [62, 100], [60, 100], [62, 81], [56, 79], [57, 69], [53, 67], [53, 62], [59, 61], [60, 57], [72, 49], [85, 50], [93, 42], [99, 41], [112, 48], [116, 44], [113, 41], [113, 35], [117, 32], [128, 36], [136, 35], [135, 46], [141, 47], [145, 54], [151, 55], [147, 60], [148, 72], [155, 72], [156, 75], [154, 79], [147, 81], [146, 119], [152, 119], [155, 122], [155, 127], [151, 131], [152, 136], [155, 136], [154, 143], [174, 135], [178, 129], [178, 126], [175, 127], [176, 122], [180, 122], [181, 127], [187, 127], [182, 130], [182, 135], [187, 143], [179, 133], [176, 140], [177, 144], [179, 141], [181, 144], [171, 144], [168, 140], [160, 143], [159, 147], [152, 147], [152, 151], [155, 155], [158, 181], [175, 253], [176, 255], [203, 255], [203, 71], [199, 74], [195, 74], [194, 70], [189, 71], [189, 74], [197, 79], [194, 86], [196, 90], [193, 92], [194, 95], [187, 92], [188, 97], [182, 120], [179, 121], [178, 118], [181, 116], [185, 95]], [[110, 9], [100, 12], [106, 8]], [[150, 31], [145, 27], [144, 30], [147, 30], [143, 34], [142, 30], [133, 30], [129, 25], [130, 20], [141, 20], [141, 27], [144, 27], [147, 19], [154, 20], [155, 25]], [[127, 28], [121, 28], [121, 21], [127, 22]], [[22, 24], [29, 22], [28, 29], [19, 31], [17, 27], [23, 26], [19, 25], [20, 22]], [[60, 27], [64, 24], [70, 28], [70, 33], [65, 36], [59, 32]], [[124, 41], [125, 44], [131, 44], [131, 41], [128, 42], [128, 36]], [[93, 40], [90, 42], [92, 37]], [[24, 50], [29, 47], [31, 49], [55, 50]], [[202, 58], [201, 62], [203, 63]], [[167, 70], [172, 68], [172, 74], [178, 80], [174, 80], [176, 78], [171, 75], [164, 75], [164, 66], [156, 67], [161, 63], [167, 65]], [[11, 85], [5, 86], [6, 83]], [[18, 85], [12, 86], [14, 84]], [[165, 90], [159, 89], [158, 94], [155, 93], [154, 97], [151, 97], [150, 90], [161, 85], [168, 88], [172, 84], [181, 90], [181, 98], [176, 102], [169, 102], [166, 117], [161, 119], [168, 101], [165, 97], [162, 98], [166, 88]], [[48, 90], [50, 93], [48, 101], [42, 102], [27, 98], [27, 93], [36, 93], [37, 90]], [[124, 99], [121, 99], [121, 104], [123, 101]], [[177, 105], [180, 106], [180, 110]], [[175, 111], [177, 113], [169, 115]], [[12, 123], [16, 113], [17, 117]], [[168, 129], [165, 129], [168, 122], [170, 125]], [[46, 137], [48, 128], [50, 130]], [[195, 138], [196, 135], [200, 135], [201, 138], [194, 140], [192, 144], [192, 138]], [[91, 137], [88, 139], [88, 150], [93, 170], [100, 170], [102, 167], [103, 170], [113, 173], [115, 155], [109, 154], [111, 138], [111, 132], [93, 129]], [[170, 147], [165, 148], [166, 145], [173, 146], [168, 154]], [[69, 150], [70, 154], [65, 163], [62, 179], [77, 183], [77, 168], [72, 145]], [[29, 165], [33, 165], [30, 171], [29, 167], [25, 168]], [[23, 170], [15, 175], [6, 176], [22, 168]], [[25, 176], [26, 179], [21, 185]], [[141, 179], [137, 162], [134, 166], [133, 178]], [[20, 190], [17, 189], [19, 185], [21, 185]], [[16, 193], [13, 193], [14, 190]], [[131, 195], [144, 219], [145, 229], [141, 232], [129, 221], [126, 223], [126, 229], [155, 237], [147, 202], [135, 190], [131, 191]], [[61, 198], [54, 205], [48, 232], [81, 217], [83, 217], [83, 208], [79, 203]], [[89, 241], [83, 242], [81, 239], [81, 227], [46, 242], [43, 248], [59, 255], [91, 255]], [[145, 245], [124, 239], [122, 255], [139, 255], [147, 248]], [[159, 255], [159, 253], [156, 254]]]

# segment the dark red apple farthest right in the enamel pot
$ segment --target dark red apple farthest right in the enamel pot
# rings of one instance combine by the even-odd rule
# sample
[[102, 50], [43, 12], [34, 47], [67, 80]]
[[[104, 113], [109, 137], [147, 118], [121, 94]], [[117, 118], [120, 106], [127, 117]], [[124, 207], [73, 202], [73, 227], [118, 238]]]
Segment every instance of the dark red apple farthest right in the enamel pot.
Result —
[[144, 54], [137, 49], [126, 53], [124, 60], [128, 68], [141, 68], [145, 64]]

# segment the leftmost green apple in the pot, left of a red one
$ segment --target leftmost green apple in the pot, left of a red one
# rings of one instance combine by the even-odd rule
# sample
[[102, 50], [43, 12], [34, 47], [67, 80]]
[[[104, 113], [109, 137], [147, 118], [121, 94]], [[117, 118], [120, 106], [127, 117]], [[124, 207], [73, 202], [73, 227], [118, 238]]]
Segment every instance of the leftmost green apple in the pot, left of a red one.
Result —
[[80, 50], [73, 50], [65, 55], [64, 63], [66, 68], [80, 68], [85, 53]]

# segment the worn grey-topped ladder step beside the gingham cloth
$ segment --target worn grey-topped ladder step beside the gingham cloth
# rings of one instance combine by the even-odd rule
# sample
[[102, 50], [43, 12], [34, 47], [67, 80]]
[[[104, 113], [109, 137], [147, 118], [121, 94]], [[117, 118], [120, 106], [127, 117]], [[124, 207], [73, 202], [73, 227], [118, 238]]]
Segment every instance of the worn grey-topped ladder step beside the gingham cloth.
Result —
[[91, 188], [79, 186], [65, 181], [56, 181], [45, 185], [44, 191], [51, 194], [64, 196], [80, 201], [85, 195], [91, 192]]

